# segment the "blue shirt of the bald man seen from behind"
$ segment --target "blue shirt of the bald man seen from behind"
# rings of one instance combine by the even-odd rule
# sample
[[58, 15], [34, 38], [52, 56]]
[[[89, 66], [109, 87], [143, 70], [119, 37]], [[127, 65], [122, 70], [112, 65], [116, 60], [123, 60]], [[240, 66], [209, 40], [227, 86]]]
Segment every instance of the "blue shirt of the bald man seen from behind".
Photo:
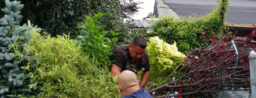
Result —
[[140, 87], [139, 90], [131, 93], [131, 95], [125, 95], [122, 98], [153, 98], [148, 91], [144, 90], [144, 88]]

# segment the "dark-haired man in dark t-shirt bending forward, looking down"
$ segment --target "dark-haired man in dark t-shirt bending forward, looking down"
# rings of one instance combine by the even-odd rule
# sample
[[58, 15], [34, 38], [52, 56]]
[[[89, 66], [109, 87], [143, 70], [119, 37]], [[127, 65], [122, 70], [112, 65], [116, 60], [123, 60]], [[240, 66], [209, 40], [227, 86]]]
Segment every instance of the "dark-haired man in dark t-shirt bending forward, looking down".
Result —
[[129, 45], [121, 45], [114, 49], [111, 56], [111, 73], [118, 75], [124, 70], [138, 73], [144, 68], [141, 76], [140, 87], [144, 87], [150, 75], [149, 56], [146, 52], [147, 41], [144, 37], [137, 36]]

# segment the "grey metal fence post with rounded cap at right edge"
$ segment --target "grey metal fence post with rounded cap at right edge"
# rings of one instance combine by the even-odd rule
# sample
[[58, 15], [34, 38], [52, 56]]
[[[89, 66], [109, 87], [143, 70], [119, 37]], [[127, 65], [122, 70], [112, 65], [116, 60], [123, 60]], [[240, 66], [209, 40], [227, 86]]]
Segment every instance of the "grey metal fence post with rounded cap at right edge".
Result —
[[252, 50], [249, 54], [250, 78], [251, 78], [251, 94], [252, 98], [256, 98], [256, 53]]

